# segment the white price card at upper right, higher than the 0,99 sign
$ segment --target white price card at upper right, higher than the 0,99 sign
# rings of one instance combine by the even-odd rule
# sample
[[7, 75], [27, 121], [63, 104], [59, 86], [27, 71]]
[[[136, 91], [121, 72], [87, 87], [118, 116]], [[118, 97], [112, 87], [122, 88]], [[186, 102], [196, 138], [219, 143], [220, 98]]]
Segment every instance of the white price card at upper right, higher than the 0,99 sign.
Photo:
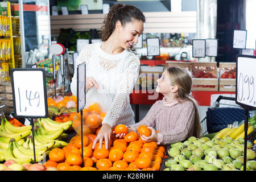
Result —
[[236, 49], [245, 49], [246, 48], [246, 30], [234, 30], [233, 37], [233, 48]]

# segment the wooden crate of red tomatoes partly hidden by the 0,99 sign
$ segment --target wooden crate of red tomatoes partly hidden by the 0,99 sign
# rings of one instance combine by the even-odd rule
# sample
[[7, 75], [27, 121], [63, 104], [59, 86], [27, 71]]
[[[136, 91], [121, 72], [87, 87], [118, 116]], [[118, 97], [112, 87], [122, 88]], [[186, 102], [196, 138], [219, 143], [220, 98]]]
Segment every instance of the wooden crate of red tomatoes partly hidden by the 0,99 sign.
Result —
[[236, 68], [236, 63], [220, 63], [219, 65], [220, 91], [235, 92], [236, 78], [221, 78], [225, 71]]

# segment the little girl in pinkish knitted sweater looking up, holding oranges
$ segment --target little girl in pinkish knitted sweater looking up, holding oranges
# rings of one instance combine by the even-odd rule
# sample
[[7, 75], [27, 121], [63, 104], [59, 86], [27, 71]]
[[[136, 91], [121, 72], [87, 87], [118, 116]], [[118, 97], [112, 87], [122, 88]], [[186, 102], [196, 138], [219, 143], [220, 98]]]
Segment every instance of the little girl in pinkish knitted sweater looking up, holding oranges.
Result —
[[191, 94], [191, 73], [187, 69], [171, 67], [157, 82], [156, 92], [163, 94], [163, 100], [156, 101], [142, 121], [128, 126], [129, 131], [137, 131], [139, 126], [146, 125], [152, 134], [142, 136], [142, 139], [158, 144], [181, 142], [191, 136], [200, 138], [199, 112]]

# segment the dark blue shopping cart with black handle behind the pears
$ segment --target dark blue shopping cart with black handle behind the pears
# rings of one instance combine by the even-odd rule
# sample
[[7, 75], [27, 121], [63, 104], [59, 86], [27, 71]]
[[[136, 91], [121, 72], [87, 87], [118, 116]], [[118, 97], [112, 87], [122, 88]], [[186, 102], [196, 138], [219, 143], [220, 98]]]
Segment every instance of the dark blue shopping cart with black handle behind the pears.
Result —
[[[237, 121], [240, 125], [245, 119], [245, 110], [240, 106], [230, 105], [225, 107], [220, 107], [221, 100], [235, 101], [236, 98], [219, 96], [215, 102], [214, 107], [209, 107], [207, 109], [206, 117], [201, 121], [202, 135], [207, 135], [211, 133], [217, 133], [218, 131], [228, 127], [228, 125], [233, 125]], [[248, 116], [250, 118], [250, 114]]]

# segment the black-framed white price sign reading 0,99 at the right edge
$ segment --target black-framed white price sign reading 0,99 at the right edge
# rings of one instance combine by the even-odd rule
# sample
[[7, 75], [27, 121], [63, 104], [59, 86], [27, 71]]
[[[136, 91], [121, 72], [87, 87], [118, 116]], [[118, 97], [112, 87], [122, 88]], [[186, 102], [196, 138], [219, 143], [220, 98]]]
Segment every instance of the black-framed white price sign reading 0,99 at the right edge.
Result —
[[256, 109], [256, 57], [237, 56], [236, 103]]

